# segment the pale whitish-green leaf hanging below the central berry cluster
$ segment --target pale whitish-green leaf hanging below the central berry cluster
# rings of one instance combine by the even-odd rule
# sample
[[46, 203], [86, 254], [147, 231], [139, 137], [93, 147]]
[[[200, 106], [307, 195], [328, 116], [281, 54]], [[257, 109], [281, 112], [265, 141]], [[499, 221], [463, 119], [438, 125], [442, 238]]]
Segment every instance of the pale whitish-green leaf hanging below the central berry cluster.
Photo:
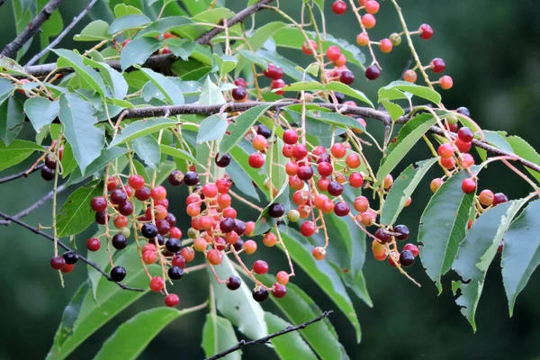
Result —
[[[221, 265], [214, 268], [220, 279], [228, 279], [231, 275], [238, 276], [229, 257], [223, 257]], [[210, 269], [208, 269], [208, 275], [214, 287], [216, 304], [220, 313], [248, 338], [266, 337], [268, 329], [266, 329], [265, 311], [258, 302], [253, 300], [251, 290], [247, 288], [247, 285], [242, 283], [238, 290], [231, 292], [227, 286], [216, 281]]]

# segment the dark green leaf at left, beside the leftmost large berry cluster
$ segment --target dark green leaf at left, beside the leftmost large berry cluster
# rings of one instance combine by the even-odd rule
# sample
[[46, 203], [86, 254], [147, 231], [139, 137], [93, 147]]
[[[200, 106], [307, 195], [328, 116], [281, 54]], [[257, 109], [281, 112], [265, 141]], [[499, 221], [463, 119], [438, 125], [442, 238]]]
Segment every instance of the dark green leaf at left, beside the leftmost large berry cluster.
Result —
[[93, 224], [95, 212], [92, 211], [90, 202], [94, 196], [102, 194], [103, 182], [100, 180], [79, 187], [71, 193], [58, 211], [58, 238], [76, 235]]

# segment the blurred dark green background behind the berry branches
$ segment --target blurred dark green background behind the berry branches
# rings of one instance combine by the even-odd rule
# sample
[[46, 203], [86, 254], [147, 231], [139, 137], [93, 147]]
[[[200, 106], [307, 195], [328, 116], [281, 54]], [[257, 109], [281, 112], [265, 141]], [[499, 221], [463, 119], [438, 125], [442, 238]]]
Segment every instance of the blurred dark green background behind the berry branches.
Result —
[[[14, 38], [12, 1], [0, 7], [0, 31], [3, 34], [0, 46]], [[302, 1], [280, 1], [289, 14], [299, 14]], [[330, 7], [331, 1], [327, 1]], [[69, 23], [87, 1], [66, 0], [60, 7], [64, 23]], [[228, 0], [229, 7], [239, 10], [246, 0]], [[408, 0], [401, 7], [411, 29], [420, 23], [430, 23], [435, 29], [432, 40], [417, 38], [420, 57], [424, 63], [435, 57], [446, 60], [446, 74], [453, 76], [454, 88], [443, 93], [447, 108], [467, 106], [473, 119], [482, 128], [505, 130], [527, 139], [535, 148], [540, 148], [540, 138], [534, 134], [540, 108], [540, 8], [531, 0], [493, 2], [488, 0], [446, 1]], [[277, 19], [275, 14], [261, 13], [257, 22], [266, 23]], [[370, 31], [372, 39], [387, 37], [399, 31], [397, 16], [392, 4], [383, 1], [377, 15], [377, 26]], [[87, 23], [88, 19], [83, 23]], [[83, 24], [76, 27], [76, 31]], [[358, 26], [350, 11], [338, 17], [327, 13], [327, 29], [338, 38], [355, 41]], [[31, 53], [37, 50], [36, 41]], [[81, 49], [85, 43], [75, 43], [71, 37], [63, 40], [59, 47]], [[300, 51], [282, 51], [282, 54], [305, 61]], [[357, 68], [356, 88], [376, 99], [378, 87], [388, 84], [401, 75], [410, 55], [406, 46], [394, 49], [390, 54], [377, 57], [383, 66], [383, 76], [368, 83]], [[23, 61], [24, 63], [24, 61]], [[375, 136], [382, 135], [382, 126], [368, 121], [368, 130]], [[33, 136], [31, 127], [23, 136]], [[376, 157], [375, 154], [373, 154]], [[369, 155], [368, 155], [369, 156]], [[476, 154], [474, 154], [476, 156]], [[421, 144], [408, 155], [414, 161], [428, 157], [428, 149]], [[29, 166], [27, 161], [8, 173]], [[396, 169], [399, 174], [403, 164]], [[438, 175], [436, 170], [431, 175]], [[401, 215], [401, 223], [407, 224], [412, 238], [418, 229], [419, 216], [428, 197], [429, 176], [413, 195], [410, 207]], [[510, 198], [527, 193], [527, 184], [502, 166], [490, 166], [482, 173], [480, 188], [491, 188], [494, 192], [505, 192]], [[27, 179], [0, 186], [0, 210], [16, 213], [42, 195], [49, 192], [50, 184], [34, 174]], [[67, 192], [69, 193], [69, 192]], [[169, 197], [171, 208], [187, 229], [184, 217], [184, 190], [175, 190]], [[67, 194], [63, 194], [61, 201]], [[247, 212], [244, 216], [249, 219]], [[50, 204], [35, 211], [25, 220], [31, 224], [49, 224]], [[77, 238], [79, 247], [85, 247], [85, 236]], [[46, 356], [62, 311], [76, 288], [85, 280], [85, 266], [80, 264], [74, 273], [66, 276], [66, 287], [58, 282], [58, 275], [51, 271], [49, 258], [52, 247], [49, 241], [36, 237], [31, 232], [11, 225], [0, 229], [0, 359], [37, 359]], [[526, 238], [523, 239], [527, 241]], [[369, 247], [368, 247], [369, 248]], [[283, 265], [283, 254], [277, 249], [265, 249], [262, 257], [273, 268]], [[526, 290], [518, 297], [514, 317], [509, 319], [508, 305], [500, 277], [500, 258], [491, 266], [477, 312], [478, 331], [471, 327], [460, 314], [450, 291], [454, 274], [446, 275], [445, 292], [437, 296], [437, 289], [425, 275], [421, 264], [410, 270], [421, 284], [417, 288], [386, 263], [378, 263], [368, 254], [365, 264], [367, 287], [374, 301], [370, 309], [355, 299], [356, 311], [362, 326], [362, 343], [357, 345], [352, 327], [338, 311], [331, 318], [338, 330], [341, 342], [351, 358], [363, 359], [537, 359], [540, 349], [540, 275], [532, 276]], [[175, 285], [175, 293], [181, 296], [181, 306], [189, 307], [202, 302], [207, 296], [207, 280], [204, 274], [186, 276], [181, 284]], [[333, 309], [332, 303], [316, 284], [302, 272], [294, 279], [295, 284], [311, 295], [322, 310]], [[177, 289], [177, 290], [176, 290]], [[161, 306], [163, 299], [148, 294], [141, 301], [123, 311], [107, 326], [99, 330], [80, 347], [71, 358], [87, 359], [96, 354], [103, 340], [123, 321], [138, 311]], [[272, 304], [265, 304], [267, 310]], [[140, 356], [142, 359], [168, 356], [181, 359], [203, 358], [201, 329], [204, 311], [176, 320], [167, 327]], [[244, 351], [245, 358], [273, 359], [275, 354], [266, 347], [250, 347]]]

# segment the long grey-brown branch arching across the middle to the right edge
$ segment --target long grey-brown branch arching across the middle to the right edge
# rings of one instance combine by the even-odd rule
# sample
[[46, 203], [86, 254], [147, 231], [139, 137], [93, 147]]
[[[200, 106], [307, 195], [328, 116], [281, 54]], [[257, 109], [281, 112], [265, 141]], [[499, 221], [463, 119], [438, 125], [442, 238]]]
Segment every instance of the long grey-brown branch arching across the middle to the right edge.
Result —
[[[245, 112], [252, 107], [258, 105], [270, 105], [269, 110], [281, 109], [285, 106], [293, 105], [297, 102], [288, 101], [288, 102], [278, 102], [278, 103], [262, 103], [262, 102], [252, 102], [252, 103], [220, 103], [217, 105], [197, 105], [197, 104], [186, 104], [186, 105], [171, 105], [171, 106], [149, 106], [149, 107], [139, 107], [133, 109], [126, 109], [122, 113], [123, 119], [132, 119], [132, 118], [151, 118], [159, 116], [173, 116], [173, 115], [184, 115], [184, 114], [196, 114], [196, 115], [211, 115], [219, 112]], [[388, 112], [381, 110], [374, 110], [370, 107], [360, 107], [360, 106], [348, 106], [345, 104], [334, 104], [334, 103], [308, 103], [308, 105], [317, 105], [322, 108], [335, 110], [343, 114], [353, 114], [358, 116], [363, 116], [365, 118], [370, 118], [378, 121], [382, 121], [384, 125], [389, 125], [392, 123], [392, 118]], [[225, 109], [225, 110], [223, 110]], [[414, 109], [413, 109], [414, 110]], [[117, 120], [118, 117], [113, 118], [112, 120]], [[395, 122], [404, 124], [407, 121], [410, 121], [410, 113], [401, 116]], [[444, 136], [443, 130], [437, 126], [432, 126], [429, 132], [437, 135]], [[454, 132], [447, 131], [454, 138], [457, 136]], [[495, 155], [500, 156], [509, 156], [514, 157], [518, 163], [521, 163], [523, 166], [527, 166], [538, 173], [540, 173], [540, 166], [528, 161], [523, 157], [518, 157], [515, 154], [511, 154], [507, 151], [504, 151], [500, 148], [496, 148], [485, 141], [473, 139], [473, 145], [478, 148], [483, 148], [486, 151], [491, 152]]]

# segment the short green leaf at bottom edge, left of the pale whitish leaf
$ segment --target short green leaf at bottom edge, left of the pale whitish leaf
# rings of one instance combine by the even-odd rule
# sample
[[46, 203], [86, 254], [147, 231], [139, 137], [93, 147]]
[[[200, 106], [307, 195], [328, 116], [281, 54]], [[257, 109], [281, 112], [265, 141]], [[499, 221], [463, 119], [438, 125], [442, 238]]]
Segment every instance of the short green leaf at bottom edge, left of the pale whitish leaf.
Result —
[[[206, 357], [211, 357], [230, 347], [238, 344], [238, 338], [234, 333], [229, 320], [220, 316], [206, 315], [206, 321], [202, 327], [202, 348]], [[225, 360], [240, 360], [242, 352], [240, 350], [223, 357]]]

